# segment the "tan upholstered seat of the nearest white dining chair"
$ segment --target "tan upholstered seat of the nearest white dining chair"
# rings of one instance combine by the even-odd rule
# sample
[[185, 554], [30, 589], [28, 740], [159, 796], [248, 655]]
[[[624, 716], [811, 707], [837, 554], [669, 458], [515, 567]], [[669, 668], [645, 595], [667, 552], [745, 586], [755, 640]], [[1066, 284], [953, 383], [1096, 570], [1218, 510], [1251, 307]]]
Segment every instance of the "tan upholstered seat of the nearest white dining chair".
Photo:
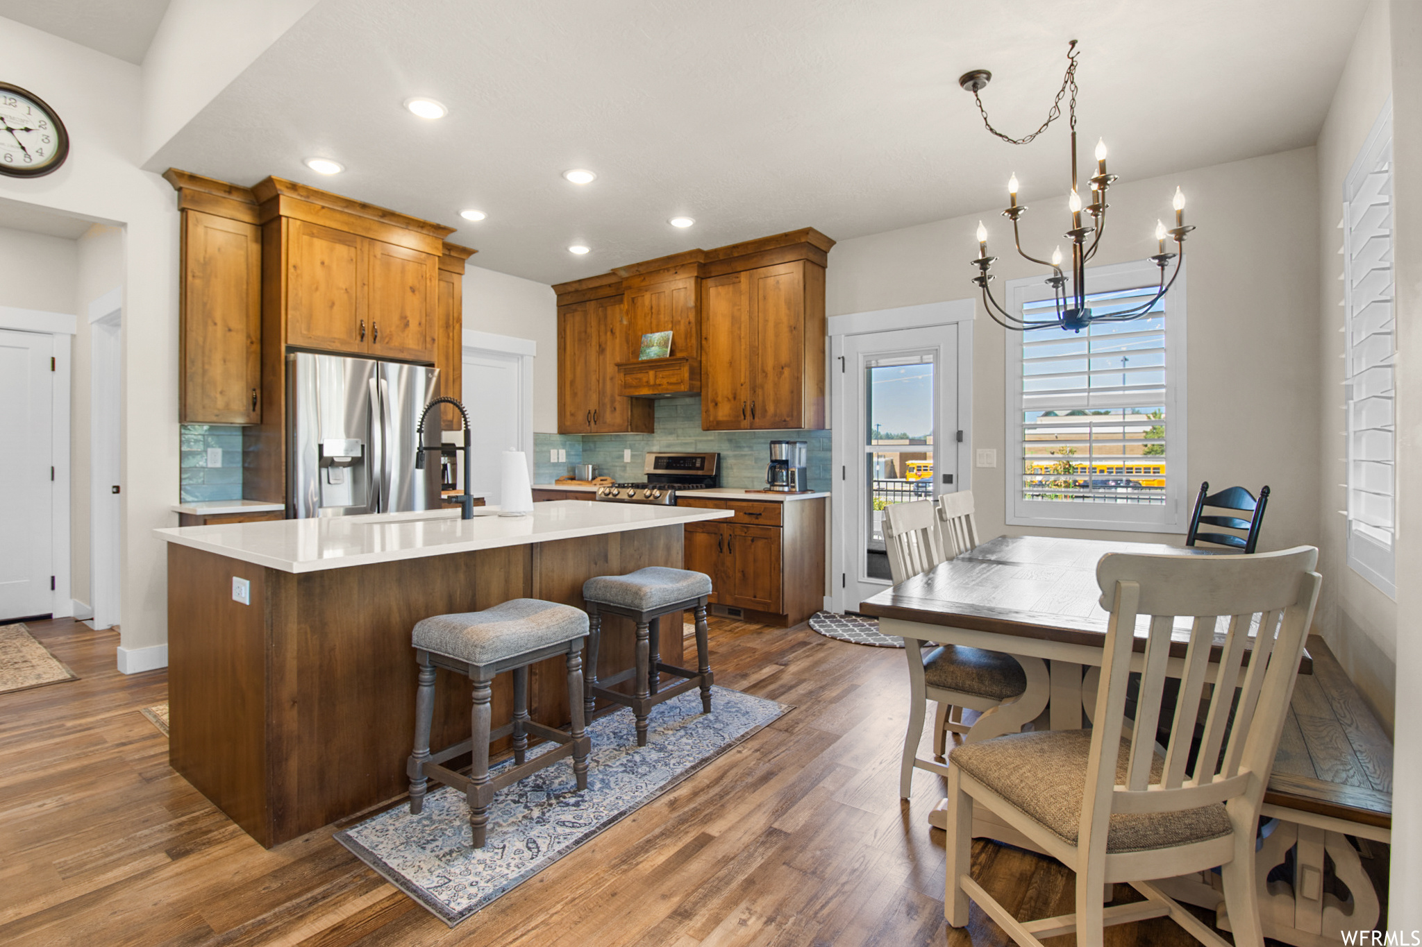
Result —
[[[1052, 835], [1076, 845], [1086, 788], [1091, 730], [1048, 730], [966, 743], [948, 752], [953, 765], [997, 792]], [[1130, 740], [1122, 737], [1116, 757], [1116, 785], [1126, 784]], [[1165, 760], [1155, 754], [1150, 782], [1159, 782]], [[1224, 804], [1173, 812], [1113, 812], [1106, 850], [1149, 852], [1229, 835]]]

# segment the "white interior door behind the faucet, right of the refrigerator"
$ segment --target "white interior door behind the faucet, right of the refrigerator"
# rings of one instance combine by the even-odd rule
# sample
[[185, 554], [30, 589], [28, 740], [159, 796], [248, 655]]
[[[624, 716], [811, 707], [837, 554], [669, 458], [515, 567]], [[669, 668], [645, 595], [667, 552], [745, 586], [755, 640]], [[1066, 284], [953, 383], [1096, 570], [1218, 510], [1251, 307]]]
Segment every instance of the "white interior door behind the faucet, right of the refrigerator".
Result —
[[[474, 493], [485, 494], [489, 505], [501, 501], [502, 454], [505, 450], [526, 450], [523, 437], [525, 359], [505, 352], [483, 349], [464, 351], [464, 405], [469, 412], [474, 433], [472, 457]], [[449, 433], [445, 434], [447, 440]], [[464, 443], [464, 434], [455, 434]], [[459, 454], [464, 464], [464, 453]], [[464, 487], [464, 470], [459, 470]]]

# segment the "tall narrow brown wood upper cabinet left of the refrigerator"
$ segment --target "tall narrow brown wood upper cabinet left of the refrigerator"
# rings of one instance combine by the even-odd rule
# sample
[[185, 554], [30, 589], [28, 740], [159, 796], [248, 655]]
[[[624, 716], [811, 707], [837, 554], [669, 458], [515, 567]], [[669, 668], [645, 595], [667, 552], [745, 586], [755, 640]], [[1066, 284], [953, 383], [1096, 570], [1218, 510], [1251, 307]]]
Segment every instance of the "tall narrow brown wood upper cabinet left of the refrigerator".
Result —
[[182, 212], [178, 419], [186, 425], [262, 420], [262, 230], [201, 210]]

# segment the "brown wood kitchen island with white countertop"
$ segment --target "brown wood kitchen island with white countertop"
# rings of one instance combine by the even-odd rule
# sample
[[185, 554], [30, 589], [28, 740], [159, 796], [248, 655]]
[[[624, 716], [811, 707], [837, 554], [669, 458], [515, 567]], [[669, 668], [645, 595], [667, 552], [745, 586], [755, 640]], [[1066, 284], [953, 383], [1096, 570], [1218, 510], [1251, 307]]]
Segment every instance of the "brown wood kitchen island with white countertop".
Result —
[[[572, 500], [478, 513], [156, 530], [173, 768], [267, 848], [392, 799], [414, 737], [415, 622], [515, 598], [582, 608], [586, 579], [678, 568], [683, 525], [731, 515]], [[668, 623], [661, 655], [675, 664], [683, 635]], [[613, 616], [603, 628], [607, 677], [631, 667], [633, 636]], [[566, 680], [562, 659], [533, 666], [535, 720], [567, 721]], [[495, 727], [512, 703], [503, 676]], [[469, 681], [441, 670], [434, 745], [468, 740], [469, 704]]]

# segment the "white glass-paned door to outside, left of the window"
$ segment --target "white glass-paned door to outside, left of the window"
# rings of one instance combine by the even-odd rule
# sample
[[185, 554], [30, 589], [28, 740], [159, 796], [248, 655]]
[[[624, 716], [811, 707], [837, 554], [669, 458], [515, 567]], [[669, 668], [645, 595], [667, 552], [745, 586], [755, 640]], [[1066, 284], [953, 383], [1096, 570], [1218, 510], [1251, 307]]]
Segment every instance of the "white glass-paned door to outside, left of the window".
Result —
[[836, 501], [848, 548], [836, 558], [848, 611], [890, 585], [884, 508], [961, 486], [957, 345], [957, 325], [845, 338], [846, 400], [835, 437], [846, 461]]

